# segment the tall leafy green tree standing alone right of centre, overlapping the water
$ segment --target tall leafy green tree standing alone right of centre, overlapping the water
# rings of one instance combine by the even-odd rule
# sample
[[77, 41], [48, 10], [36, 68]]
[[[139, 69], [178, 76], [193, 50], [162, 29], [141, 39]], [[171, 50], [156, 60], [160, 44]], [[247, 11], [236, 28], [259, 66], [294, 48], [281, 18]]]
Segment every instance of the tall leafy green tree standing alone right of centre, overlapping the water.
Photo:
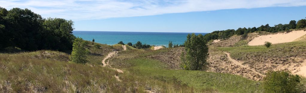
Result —
[[185, 70], [207, 70], [209, 54], [206, 44], [202, 34], [188, 34], [184, 43], [185, 52], [181, 54], [181, 67]]

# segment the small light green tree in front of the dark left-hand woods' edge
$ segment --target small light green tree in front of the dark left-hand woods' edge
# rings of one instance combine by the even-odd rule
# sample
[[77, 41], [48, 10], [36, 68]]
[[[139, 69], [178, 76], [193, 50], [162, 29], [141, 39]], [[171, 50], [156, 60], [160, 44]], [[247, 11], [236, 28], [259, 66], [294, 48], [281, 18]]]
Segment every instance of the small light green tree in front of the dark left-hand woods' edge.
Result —
[[69, 56], [71, 62], [81, 64], [88, 62], [87, 55], [89, 54], [89, 50], [85, 46], [86, 42], [82, 38], [74, 39], [72, 53]]

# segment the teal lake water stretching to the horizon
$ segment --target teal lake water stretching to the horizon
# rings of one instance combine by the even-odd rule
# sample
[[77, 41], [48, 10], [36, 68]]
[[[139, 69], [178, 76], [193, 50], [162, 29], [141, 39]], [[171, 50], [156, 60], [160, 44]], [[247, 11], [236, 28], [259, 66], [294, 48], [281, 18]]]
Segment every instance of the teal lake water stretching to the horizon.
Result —
[[[93, 38], [95, 42], [101, 44], [114, 45], [119, 41], [123, 43], [132, 42], [135, 44], [140, 41], [142, 44], [166, 46], [169, 41], [173, 44], [183, 44], [186, 40], [187, 34], [191, 33], [170, 33], [170, 32], [113, 32], [113, 31], [73, 31], [76, 37], [81, 37], [84, 40], [91, 41]], [[207, 34], [207, 33], [195, 33]]]

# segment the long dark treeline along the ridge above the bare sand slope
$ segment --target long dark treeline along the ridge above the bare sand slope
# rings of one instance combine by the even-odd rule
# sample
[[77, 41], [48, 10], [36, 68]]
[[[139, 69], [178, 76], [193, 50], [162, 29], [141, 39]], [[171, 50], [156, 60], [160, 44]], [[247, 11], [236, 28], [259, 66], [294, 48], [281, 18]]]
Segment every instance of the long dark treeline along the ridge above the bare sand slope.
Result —
[[237, 30], [234, 29], [228, 29], [228, 30], [221, 30], [221, 31], [213, 31], [211, 33], [205, 34], [204, 38], [206, 41], [214, 40], [214, 39], [226, 39], [233, 35], [243, 35], [248, 34], [252, 32], [260, 32], [260, 31], [266, 31], [266, 32], [279, 32], [284, 30], [290, 30], [290, 29], [296, 29], [296, 28], [305, 28], [306, 27], [306, 19], [301, 19], [299, 21], [291, 20], [289, 24], [278, 24], [274, 25], [274, 27], [270, 27], [269, 24], [261, 25], [260, 27], [248, 27], [248, 28], [238, 28]]

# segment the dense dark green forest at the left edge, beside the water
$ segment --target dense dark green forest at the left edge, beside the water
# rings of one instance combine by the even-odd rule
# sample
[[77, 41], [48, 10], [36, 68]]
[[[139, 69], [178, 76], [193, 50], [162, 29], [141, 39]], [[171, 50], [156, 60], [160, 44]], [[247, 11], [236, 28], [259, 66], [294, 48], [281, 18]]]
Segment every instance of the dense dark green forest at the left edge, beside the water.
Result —
[[72, 20], [45, 19], [29, 9], [0, 7], [0, 49], [71, 50], [76, 38], [73, 29]]

